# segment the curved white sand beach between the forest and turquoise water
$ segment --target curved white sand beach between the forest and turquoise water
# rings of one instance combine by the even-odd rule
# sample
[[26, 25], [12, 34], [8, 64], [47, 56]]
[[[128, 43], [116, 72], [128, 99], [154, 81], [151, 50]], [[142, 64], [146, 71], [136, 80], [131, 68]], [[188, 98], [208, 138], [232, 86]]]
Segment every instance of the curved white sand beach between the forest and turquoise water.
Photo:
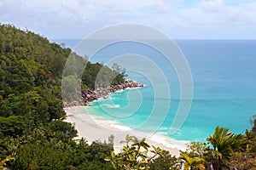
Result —
[[124, 140], [126, 134], [136, 136], [138, 139], [146, 138], [149, 145], [160, 147], [164, 150], [169, 150], [173, 156], [179, 156], [179, 150], [185, 150], [187, 141], [180, 141], [170, 139], [158, 133], [150, 134], [132, 130], [130, 127], [119, 125], [117, 122], [102, 120], [101, 117], [90, 116], [80, 113], [79, 107], [76, 106], [65, 108], [67, 112], [66, 122], [70, 122], [78, 130], [78, 139], [84, 137], [89, 144], [92, 141], [99, 140], [108, 142], [108, 137], [113, 134], [114, 136], [114, 150], [119, 152], [123, 144], [119, 141]]

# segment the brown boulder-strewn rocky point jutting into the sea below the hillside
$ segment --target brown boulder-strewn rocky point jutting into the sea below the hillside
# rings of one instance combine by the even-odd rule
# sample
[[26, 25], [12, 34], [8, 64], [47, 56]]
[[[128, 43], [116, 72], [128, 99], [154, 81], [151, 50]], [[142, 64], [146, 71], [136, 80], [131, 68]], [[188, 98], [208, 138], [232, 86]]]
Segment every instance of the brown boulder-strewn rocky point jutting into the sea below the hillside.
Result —
[[125, 82], [108, 86], [106, 88], [96, 88], [96, 90], [83, 89], [81, 92], [81, 100], [65, 103], [64, 107], [77, 105], [90, 105], [90, 102], [100, 98], [108, 98], [108, 94], [114, 93], [118, 90], [125, 90], [126, 88], [142, 88], [143, 83], [133, 82], [132, 80], [125, 80]]

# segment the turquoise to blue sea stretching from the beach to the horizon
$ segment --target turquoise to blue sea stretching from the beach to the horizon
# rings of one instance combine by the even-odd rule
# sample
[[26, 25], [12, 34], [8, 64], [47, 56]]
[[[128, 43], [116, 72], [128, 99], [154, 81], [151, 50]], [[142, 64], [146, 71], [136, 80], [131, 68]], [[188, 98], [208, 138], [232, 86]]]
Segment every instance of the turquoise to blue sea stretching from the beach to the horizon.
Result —
[[[79, 41], [55, 42], [65, 42], [67, 47], [74, 48]], [[111, 94], [108, 99], [93, 102], [86, 111], [140, 131], [189, 141], [206, 139], [216, 126], [229, 127], [234, 133], [244, 133], [245, 129], [251, 128], [249, 119], [256, 113], [256, 40], [175, 42], [188, 61], [194, 94], [189, 115], [177, 133], [170, 133], [181, 102], [177, 72], [166, 62], [163, 54], [140, 43], [112, 44], [98, 51], [91, 61], [108, 64], [109, 59], [122, 54], [126, 54], [126, 58], [129, 54], [144, 56], [163, 73], [170, 98], [166, 98], [166, 86], [158, 74], [149, 74], [153, 76], [148, 78], [148, 74], [143, 72], [154, 72], [154, 69], [147, 68], [152, 65], [134, 61], [133, 65], [141, 70], [128, 70], [127, 78], [142, 82], [145, 87]], [[162, 91], [156, 95], [154, 90], [159, 89]], [[157, 114], [152, 114], [153, 110]]]

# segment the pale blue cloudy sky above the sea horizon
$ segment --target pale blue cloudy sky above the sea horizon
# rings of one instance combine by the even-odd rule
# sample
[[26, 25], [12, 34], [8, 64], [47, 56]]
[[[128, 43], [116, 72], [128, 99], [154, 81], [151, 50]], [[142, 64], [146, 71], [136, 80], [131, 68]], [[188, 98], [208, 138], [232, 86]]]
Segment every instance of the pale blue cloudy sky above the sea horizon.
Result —
[[126, 23], [175, 39], [256, 39], [256, 1], [0, 0], [0, 23], [49, 39], [81, 39]]

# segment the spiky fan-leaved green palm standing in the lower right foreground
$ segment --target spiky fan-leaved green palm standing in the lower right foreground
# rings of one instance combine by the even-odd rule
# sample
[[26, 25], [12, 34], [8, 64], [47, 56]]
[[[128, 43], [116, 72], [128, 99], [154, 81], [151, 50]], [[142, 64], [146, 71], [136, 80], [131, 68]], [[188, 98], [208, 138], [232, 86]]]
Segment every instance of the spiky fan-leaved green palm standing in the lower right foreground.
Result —
[[232, 152], [241, 150], [245, 144], [245, 137], [241, 134], [229, 132], [227, 127], [216, 127], [215, 132], [207, 138], [214, 149], [213, 165], [215, 168], [228, 166]]

